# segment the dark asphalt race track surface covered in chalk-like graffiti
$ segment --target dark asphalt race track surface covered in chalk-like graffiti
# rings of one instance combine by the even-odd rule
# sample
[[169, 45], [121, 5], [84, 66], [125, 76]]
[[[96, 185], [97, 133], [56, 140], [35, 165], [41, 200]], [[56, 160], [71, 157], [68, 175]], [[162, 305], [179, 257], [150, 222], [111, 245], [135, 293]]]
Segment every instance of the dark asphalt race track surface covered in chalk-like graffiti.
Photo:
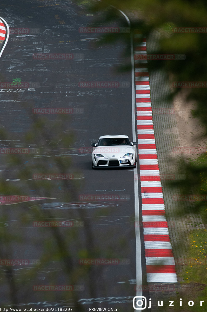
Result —
[[[0, 305], [134, 311], [134, 170], [92, 170], [90, 147], [101, 135], [126, 134], [132, 141], [131, 71], [117, 71], [127, 43], [121, 34], [103, 44], [99, 34], [81, 33], [99, 16], [71, 1], [8, 0], [0, 16], [10, 28], [1, 84], [22, 83], [0, 89], [0, 181], [7, 196], [1, 198], [0, 257], [22, 259], [21, 266], [0, 266]], [[119, 23], [126, 26], [121, 15]], [[118, 87], [81, 85], [87, 81]], [[38, 114], [42, 108], [63, 113]], [[18, 152], [4, 154], [7, 148]], [[69, 225], [38, 226], [54, 220]], [[144, 251], [140, 256], [145, 272]], [[71, 291], [38, 285], [71, 285]]]

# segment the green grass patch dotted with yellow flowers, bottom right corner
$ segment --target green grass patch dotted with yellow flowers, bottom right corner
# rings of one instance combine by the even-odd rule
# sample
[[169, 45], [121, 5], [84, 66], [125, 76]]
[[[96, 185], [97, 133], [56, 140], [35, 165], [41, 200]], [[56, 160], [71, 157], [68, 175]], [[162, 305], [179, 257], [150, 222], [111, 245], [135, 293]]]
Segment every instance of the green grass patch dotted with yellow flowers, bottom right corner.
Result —
[[[178, 259], [181, 271], [178, 273], [182, 281], [182, 292], [177, 294], [175, 310], [182, 311], [179, 300], [182, 298], [183, 310], [189, 312], [206, 312], [207, 302], [207, 231], [196, 229], [190, 232], [187, 237], [188, 251], [185, 259]], [[186, 287], [188, 286], [188, 287]], [[194, 302], [193, 306], [188, 301]], [[204, 300], [200, 306], [200, 300]]]

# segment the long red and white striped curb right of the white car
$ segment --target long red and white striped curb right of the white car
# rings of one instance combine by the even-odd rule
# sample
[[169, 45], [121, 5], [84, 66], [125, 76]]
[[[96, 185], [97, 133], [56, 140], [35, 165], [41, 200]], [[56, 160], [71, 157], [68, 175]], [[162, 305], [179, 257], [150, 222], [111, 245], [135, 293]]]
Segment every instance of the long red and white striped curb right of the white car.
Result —
[[[147, 54], [146, 39], [134, 34], [134, 54]], [[155, 144], [147, 60], [134, 60], [138, 154], [142, 193], [142, 222], [146, 257], [147, 282], [176, 283], [160, 171]]]

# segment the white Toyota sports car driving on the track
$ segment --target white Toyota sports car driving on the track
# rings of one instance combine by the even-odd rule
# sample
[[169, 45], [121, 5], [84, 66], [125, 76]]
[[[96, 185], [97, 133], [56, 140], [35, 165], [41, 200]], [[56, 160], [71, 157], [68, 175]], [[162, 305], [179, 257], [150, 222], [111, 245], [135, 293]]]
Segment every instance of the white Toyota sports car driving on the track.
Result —
[[127, 135], [103, 135], [98, 143], [92, 143], [92, 168], [136, 167], [136, 142]]

